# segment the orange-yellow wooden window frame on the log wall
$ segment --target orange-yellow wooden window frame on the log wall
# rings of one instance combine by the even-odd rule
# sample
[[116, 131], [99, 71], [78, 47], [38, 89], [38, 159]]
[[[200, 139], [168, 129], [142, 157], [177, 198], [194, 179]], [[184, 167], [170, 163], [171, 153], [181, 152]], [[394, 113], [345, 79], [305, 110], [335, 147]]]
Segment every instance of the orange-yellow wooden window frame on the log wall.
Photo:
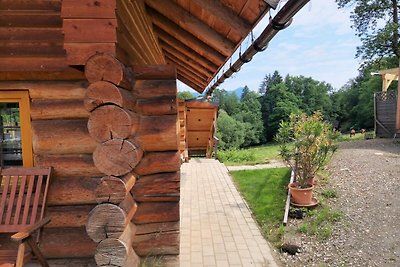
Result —
[[0, 102], [18, 103], [21, 127], [22, 166], [33, 167], [29, 91], [5, 91], [0, 89]]

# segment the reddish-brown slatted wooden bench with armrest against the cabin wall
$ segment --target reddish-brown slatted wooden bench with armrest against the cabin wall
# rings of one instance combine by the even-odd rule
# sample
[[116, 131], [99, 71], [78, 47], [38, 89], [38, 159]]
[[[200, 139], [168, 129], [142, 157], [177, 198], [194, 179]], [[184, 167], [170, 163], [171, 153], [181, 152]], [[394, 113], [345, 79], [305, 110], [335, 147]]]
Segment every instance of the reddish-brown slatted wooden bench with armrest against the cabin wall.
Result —
[[[0, 169], [0, 233], [13, 234], [11, 240], [19, 243], [17, 249], [0, 249], [0, 266], [6, 263], [23, 266], [33, 255], [42, 266], [48, 266], [37, 243], [40, 229], [50, 221], [44, 218], [44, 212], [51, 171], [51, 168]], [[37, 233], [36, 240], [33, 233]]]

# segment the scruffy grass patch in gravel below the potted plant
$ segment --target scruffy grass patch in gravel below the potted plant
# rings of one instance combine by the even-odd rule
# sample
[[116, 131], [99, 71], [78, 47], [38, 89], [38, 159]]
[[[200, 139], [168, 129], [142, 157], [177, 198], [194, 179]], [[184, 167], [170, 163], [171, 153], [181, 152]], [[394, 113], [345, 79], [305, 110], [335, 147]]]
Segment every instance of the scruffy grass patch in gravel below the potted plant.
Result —
[[332, 235], [332, 224], [342, 218], [343, 212], [329, 207], [309, 210], [298, 231], [306, 235], [315, 235], [319, 240], [327, 240]]

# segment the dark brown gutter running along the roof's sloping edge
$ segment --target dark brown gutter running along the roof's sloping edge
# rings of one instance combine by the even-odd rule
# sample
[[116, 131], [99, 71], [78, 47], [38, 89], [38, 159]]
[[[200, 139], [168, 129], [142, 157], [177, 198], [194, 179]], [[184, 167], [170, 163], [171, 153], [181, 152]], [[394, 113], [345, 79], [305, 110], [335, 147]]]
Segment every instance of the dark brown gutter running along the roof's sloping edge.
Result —
[[238, 72], [243, 66], [243, 64], [248, 63], [251, 61], [253, 56], [258, 52], [264, 51], [268, 43], [274, 38], [274, 36], [282, 29], [288, 27], [291, 22], [293, 16], [303, 7], [305, 6], [310, 0], [289, 0], [281, 10], [275, 15], [275, 17], [270, 20], [267, 27], [264, 31], [260, 34], [260, 36], [250, 45], [247, 50], [239, 55], [239, 59], [233, 63], [227, 71], [225, 71], [221, 77], [208, 88], [206, 91], [206, 95], [211, 95], [215, 88], [218, 85], [222, 84], [225, 79], [232, 76], [233, 73]]

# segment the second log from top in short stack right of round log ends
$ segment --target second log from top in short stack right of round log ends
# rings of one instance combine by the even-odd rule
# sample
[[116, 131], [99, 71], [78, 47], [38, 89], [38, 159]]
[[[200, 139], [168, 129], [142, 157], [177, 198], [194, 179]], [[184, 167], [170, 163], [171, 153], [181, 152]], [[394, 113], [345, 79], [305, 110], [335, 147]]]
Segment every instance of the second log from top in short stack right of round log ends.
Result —
[[176, 80], [136, 80], [132, 93], [137, 99], [159, 96], [176, 97]]

